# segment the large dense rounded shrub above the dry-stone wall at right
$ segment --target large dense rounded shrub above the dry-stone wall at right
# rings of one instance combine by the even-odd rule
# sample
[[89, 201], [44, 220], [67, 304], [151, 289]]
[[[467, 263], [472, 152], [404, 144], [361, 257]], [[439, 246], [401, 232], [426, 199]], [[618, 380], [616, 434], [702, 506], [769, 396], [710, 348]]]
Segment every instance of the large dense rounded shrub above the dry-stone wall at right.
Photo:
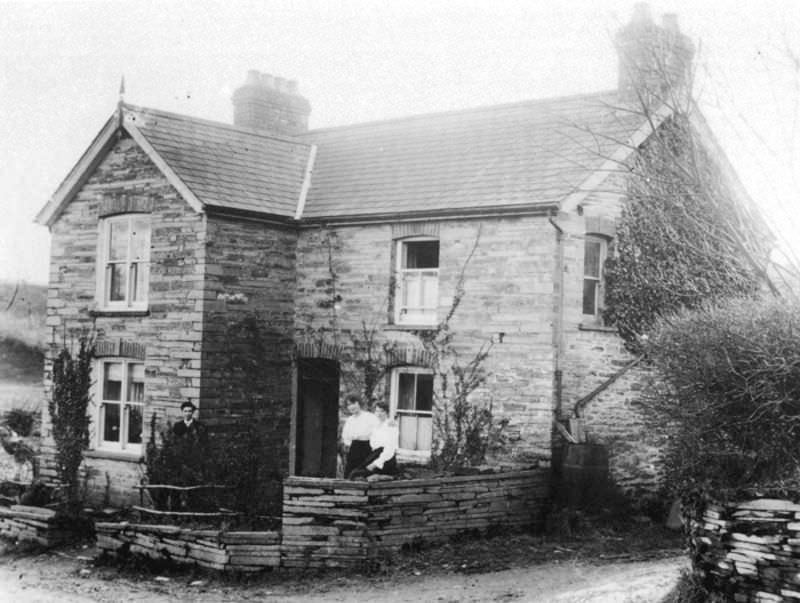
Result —
[[650, 401], [672, 428], [668, 486], [678, 492], [797, 481], [800, 308], [730, 299], [656, 323], [647, 351], [665, 387]]

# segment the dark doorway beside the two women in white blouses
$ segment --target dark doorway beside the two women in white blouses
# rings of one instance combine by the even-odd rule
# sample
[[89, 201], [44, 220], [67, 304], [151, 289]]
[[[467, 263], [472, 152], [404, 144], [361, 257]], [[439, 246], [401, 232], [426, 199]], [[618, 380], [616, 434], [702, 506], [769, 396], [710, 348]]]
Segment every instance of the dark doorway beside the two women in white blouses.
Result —
[[338, 430], [339, 364], [325, 358], [301, 358], [297, 371], [297, 475], [336, 477]]

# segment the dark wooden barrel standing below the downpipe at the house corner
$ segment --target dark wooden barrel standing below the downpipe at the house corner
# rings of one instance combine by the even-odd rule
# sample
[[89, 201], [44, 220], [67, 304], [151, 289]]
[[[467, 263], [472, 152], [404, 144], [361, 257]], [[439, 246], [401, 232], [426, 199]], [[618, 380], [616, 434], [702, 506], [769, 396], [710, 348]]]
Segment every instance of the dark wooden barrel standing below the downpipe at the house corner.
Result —
[[600, 444], [567, 444], [562, 469], [562, 500], [573, 509], [601, 505], [609, 493], [608, 450]]

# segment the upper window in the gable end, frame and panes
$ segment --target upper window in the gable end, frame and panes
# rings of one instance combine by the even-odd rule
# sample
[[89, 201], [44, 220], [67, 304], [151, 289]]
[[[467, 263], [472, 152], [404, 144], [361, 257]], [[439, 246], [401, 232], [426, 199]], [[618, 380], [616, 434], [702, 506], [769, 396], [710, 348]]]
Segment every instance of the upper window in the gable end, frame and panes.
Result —
[[100, 221], [97, 299], [109, 310], [147, 309], [150, 216], [124, 214]]

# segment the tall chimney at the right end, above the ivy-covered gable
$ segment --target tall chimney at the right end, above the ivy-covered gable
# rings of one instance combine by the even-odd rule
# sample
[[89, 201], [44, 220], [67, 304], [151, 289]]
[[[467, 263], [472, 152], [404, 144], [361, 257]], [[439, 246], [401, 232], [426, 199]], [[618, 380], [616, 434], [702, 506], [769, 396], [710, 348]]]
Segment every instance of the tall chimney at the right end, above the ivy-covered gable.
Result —
[[619, 55], [620, 100], [648, 106], [669, 100], [670, 91], [688, 86], [694, 44], [678, 28], [678, 17], [653, 22], [646, 2], [634, 5], [631, 22], [615, 39]]

